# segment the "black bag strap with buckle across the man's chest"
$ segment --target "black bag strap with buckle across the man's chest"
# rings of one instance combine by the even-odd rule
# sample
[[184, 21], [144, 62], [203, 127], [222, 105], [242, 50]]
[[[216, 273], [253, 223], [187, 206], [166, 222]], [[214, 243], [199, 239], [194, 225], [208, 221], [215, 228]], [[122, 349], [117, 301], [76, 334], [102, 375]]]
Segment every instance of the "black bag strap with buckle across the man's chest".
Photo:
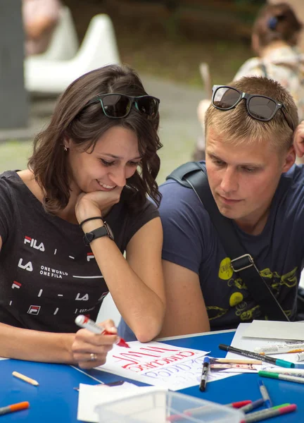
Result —
[[289, 321], [279, 302], [265, 283], [255, 266], [253, 257], [245, 252], [234, 231], [232, 221], [223, 216], [213, 198], [208, 176], [203, 164], [189, 161], [179, 166], [166, 179], [174, 179], [186, 188], [193, 188], [210, 215], [225, 252], [231, 259], [233, 271], [240, 274], [255, 302], [260, 305], [265, 317], [270, 320]]

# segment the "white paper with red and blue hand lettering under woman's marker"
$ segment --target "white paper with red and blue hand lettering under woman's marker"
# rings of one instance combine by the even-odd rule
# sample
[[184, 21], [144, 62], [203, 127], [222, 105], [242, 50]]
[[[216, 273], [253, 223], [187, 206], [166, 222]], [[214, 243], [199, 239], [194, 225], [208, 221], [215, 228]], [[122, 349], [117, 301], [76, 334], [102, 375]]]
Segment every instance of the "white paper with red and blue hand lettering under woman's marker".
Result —
[[[175, 347], [160, 342], [129, 342], [131, 348], [114, 345], [106, 364], [96, 367], [145, 384], [163, 386], [171, 391], [199, 385], [206, 351]], [[210, 373], [209, 373], [210, 374]], [[233, 374], [216, 372], [208, 381], [224, 379]]]

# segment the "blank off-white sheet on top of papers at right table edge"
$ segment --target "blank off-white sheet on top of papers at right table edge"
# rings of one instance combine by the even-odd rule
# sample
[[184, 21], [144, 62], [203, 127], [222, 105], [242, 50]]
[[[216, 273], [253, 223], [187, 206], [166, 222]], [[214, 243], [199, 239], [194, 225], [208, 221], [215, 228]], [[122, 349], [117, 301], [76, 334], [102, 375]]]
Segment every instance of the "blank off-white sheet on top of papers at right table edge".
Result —
[[300, 321], [253, 320], [243, 331], [243, 336], [304, 341], [304, 324]]

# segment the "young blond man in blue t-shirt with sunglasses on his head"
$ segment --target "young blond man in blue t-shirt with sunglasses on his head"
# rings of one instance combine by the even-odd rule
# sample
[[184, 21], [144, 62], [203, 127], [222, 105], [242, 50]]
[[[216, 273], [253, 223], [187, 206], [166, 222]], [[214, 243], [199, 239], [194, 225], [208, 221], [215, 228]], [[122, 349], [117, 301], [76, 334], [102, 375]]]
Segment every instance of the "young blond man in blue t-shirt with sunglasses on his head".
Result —
[[[304, 168], [295, 165], [296, 104], [278, 82], [242, 78], [213, 87], [206, 113], [210, 190], [246, 252], [292, 320], [304, 258]], [[194, 190], [161, 187], [167, 312], [162, 336], [235, 328], [263, 318], [234, 273]]]

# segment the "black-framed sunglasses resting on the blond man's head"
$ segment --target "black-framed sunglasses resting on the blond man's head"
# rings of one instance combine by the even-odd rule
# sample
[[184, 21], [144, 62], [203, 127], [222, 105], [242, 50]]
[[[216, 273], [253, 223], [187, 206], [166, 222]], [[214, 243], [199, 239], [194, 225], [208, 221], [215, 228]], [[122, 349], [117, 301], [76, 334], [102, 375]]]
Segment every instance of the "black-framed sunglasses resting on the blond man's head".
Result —
[[271, 121], [278, 110], [281, 110], [291, 130], [295, 130], [294, 123], [284, 104], [270, 97], [260, 94], [247, 94], [228, 85], [213, 85], [212, 104], [216, 109], [234, 109], [242, 99], [246, 99], [248, 114], [258, 121]]

